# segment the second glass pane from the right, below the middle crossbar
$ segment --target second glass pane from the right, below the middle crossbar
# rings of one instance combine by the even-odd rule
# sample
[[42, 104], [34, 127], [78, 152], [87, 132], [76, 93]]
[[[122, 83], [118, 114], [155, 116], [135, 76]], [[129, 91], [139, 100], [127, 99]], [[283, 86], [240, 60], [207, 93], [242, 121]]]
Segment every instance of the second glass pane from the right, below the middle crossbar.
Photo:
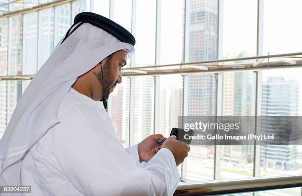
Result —
[[[224, 72], [223, 116], [255, 116], [255, 93], [253, 71]], [[221, 179], [253, 177], [253, 170], [254, 146], [221, 146]]]

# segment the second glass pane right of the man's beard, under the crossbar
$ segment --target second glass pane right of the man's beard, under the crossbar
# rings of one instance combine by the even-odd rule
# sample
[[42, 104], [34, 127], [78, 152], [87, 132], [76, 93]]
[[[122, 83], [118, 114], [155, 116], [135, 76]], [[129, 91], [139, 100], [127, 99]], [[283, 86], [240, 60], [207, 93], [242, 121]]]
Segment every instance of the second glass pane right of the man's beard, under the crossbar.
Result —
[[[134, 77], [134, 111], [133, 137], [134, 144], [153, 134], [154, 79], [153, 77]], [[132, 85], [132, 84], [131, 84]]]

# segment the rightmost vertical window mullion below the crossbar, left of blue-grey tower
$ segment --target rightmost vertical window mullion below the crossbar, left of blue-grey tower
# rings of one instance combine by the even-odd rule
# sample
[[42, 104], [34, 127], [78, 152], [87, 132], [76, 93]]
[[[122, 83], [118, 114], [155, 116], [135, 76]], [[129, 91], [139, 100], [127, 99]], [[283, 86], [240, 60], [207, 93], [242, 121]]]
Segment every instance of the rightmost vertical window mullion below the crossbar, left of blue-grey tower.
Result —
[[[262, 72], [255, 71], [256, 95], [255, 95], [255, 134], [261, 133], [261, 115], [262, 115]], [[261, 142], [254, 142], [254, 171], [253, 177], [260, 176], [260, 160], [261, 160]]]

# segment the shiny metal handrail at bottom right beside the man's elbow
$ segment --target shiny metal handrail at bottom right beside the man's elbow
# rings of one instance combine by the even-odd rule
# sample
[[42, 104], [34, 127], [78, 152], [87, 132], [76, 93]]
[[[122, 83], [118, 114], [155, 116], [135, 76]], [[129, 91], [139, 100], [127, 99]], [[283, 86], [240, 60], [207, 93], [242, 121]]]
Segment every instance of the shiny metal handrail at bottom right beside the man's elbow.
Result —
[[180, 183], [174, 196], [210, 196], [293, 187], [302, 187], [302, 174]]

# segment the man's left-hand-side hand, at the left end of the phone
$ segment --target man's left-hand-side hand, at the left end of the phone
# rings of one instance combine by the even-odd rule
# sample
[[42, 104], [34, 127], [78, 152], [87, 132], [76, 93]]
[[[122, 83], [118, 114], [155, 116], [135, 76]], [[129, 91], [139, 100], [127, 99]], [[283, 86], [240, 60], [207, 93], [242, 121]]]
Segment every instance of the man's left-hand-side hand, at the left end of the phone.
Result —
[[166, 140], [162, 134], [154, 134], [145, 138], [141, 143], [138, 144], [138, 154], [140, 162], [149, 162], [151, 158], [161, 149], [161, 146], [156, 143], [157, 140]]

